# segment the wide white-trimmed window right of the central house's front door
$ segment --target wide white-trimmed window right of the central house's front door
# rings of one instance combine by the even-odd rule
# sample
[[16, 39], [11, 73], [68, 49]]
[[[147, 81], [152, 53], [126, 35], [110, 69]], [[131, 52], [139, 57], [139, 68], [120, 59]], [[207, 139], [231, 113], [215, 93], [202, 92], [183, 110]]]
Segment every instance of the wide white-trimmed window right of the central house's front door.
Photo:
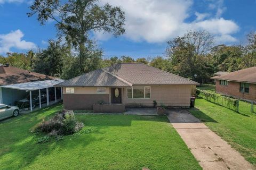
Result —
[[126, 96], [130, 99], [149, 99], [151, 97], [150, 86], [133, 86], [126, 88]]

